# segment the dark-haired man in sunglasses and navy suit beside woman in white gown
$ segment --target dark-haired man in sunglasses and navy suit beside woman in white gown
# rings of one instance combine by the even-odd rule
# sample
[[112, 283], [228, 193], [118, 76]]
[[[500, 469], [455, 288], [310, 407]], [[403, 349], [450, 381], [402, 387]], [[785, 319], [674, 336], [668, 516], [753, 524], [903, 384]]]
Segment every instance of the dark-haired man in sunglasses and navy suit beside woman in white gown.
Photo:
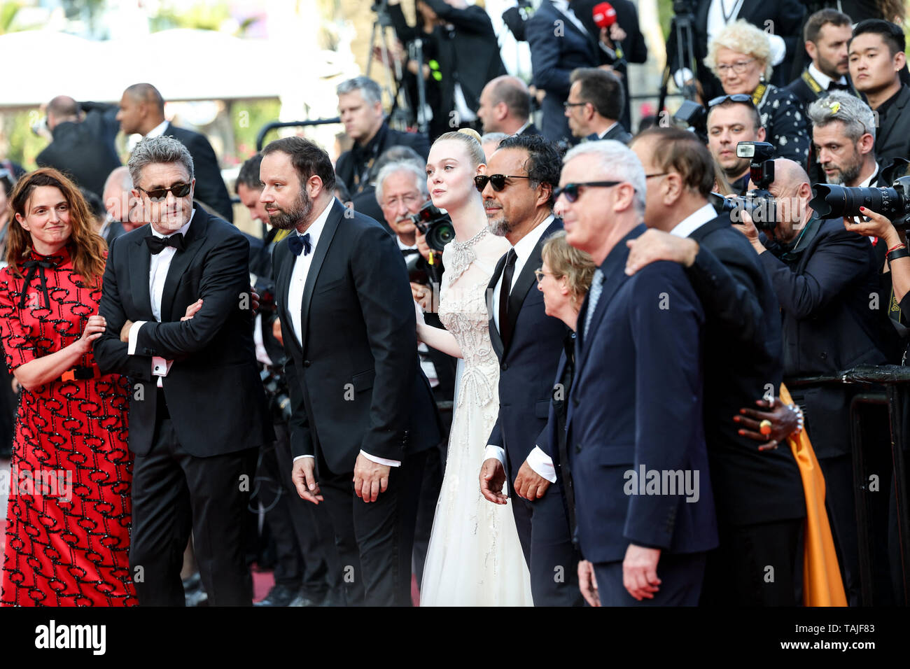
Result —
[[[518, 496], [512, 513], [537, 606], [581, 605], [569, 522], [559, 490], [550, 489], [556, 472], [537, 447], [566, 335], [562, 321], [546, 315], [534, 277], [544, 242], [562, 229], [552, 212], [559, 177], [559, 150], [537, 135], [503, 139], [478, 179], [490, 231], [512, 245], [487, 292], [490, 341], [500, 360], [500, 415], [487, 441], [480, 492], [506, 503], [500, 491], [508, 476]], [[560, 573], [564, 578], [555, 578]]]

